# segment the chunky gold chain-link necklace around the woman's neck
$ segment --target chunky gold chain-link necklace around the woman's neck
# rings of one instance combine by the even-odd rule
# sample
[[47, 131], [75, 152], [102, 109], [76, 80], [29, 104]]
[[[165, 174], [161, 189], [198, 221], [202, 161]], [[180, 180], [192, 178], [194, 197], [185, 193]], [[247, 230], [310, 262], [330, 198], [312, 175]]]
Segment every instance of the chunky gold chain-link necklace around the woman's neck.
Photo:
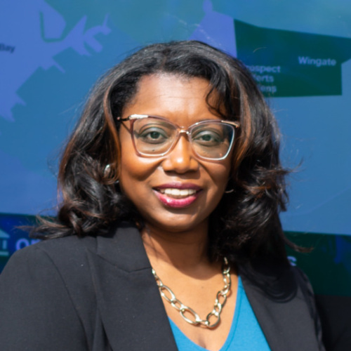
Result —
[[[197, 314], [197, 312], [195, 312], [191, 307], [183, 305], [183, 303], [181, 303], [180, 300], [176, 298], [176, 295], [174, 295], [173, 291], [171, 291], [168, 286], [164, 285], [161, 282], [161, 279], [159, 279], [153, 268], [152, 274], [154, 274], [154, 279], [156, 280], [156, 284], [159, 287], [159, 293], [161, 296], [166, 301], [168, 301], [168, 303], [171, 303], [171, 306], [180, 313], [180, 316], [182, 316], [187, 323], [194, 326], [205, 326], [209, 329], [215, 328], [218, 325], [220, 322], [220, 312], [222, 312], [223, 306], [227, 301], [227, 294], [230, 292], [230, 287], [232, 286], [232, 279], [230, 279], [230, 266], [228, 265], [227, 258], [223, 258], [222, 275], [224, 287], [222, 290], [218, 291], [213, 310], [207, 314], [206, 319], [201, 319], [199, 317], [199, 314]], [[190, 314], [192, 316], [192, 319], [186, 317], [185, 312], [187, 312], [187, 314]], [[213, 323], [210, 322], [211, 318], [215, 318]]]

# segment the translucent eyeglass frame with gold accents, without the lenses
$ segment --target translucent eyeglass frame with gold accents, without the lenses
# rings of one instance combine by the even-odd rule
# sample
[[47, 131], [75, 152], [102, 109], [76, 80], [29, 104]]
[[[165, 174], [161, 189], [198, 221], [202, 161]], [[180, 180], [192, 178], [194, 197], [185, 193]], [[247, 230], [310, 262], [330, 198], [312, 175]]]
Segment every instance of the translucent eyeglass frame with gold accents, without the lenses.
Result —
[[[173, 144], [171, 145], [171, 147], [166, 152], [164, 152], [162, 154], [155, 154], [155, 155], [153, 155], [153, 154], [143, 154], [143, 152], [140, 152], [137, 149], [136, 145], [135, 145], [134, 134], [133, 134], [134, 122], [137, 121], [138, 119], [145, 119], [145, 118], [149, 118], [149, 117], [155, 118], [155, 119], [161, 119], [161, 121], [166, 121], [169, 124], [175, 126], [176, 129], [177, 129], [177, 135], [176, 135], [176, 138], [173, 141]], [[226, 120], [220, 120], [220, 119], [204, 119], [203, 121], [198, 121], [198, 122], [192, 124], [191, 126], [185, 128], [185, 127], [179, 126], [176, 123], [173, 123], [173, 122], [169, 121], [165, 117], [154, 116], [152, 114], [131, 114], [131, 115], [129, 115], [126, 118], [117, 117], [117, 121], [119, 121], [119, 122], [130, 121], [131, 122], [130, 128], [128, 128], [128, 127], [126, 127], [126, 128], [128, 129], [129, 133], [131, 134], [134, 150], [138, 154], [138, 156], [141, 156], [141, 157], [164, 157], [164, 156], [166, 156], [166, 154], [171, 152], [173, 150], [173, 148], [177, 145], [177, 143], [179, 141], [179, 138], [180, 138], [180, 135], [185, 133], [187, 135], [187, 140], [189, 141], [190, 146], [191, 146], [192, 151], [194, 152], [194, 154], [199, 159], [204, 159], [206, 161], [221, 161], [221, 160], [225, 159], [228, 156], [228, 154], [230, 154], [230, 150], [232, 149], [232, 146], [234, 144], [235, 128], [239, 128], [240, 127], [240, 124], [237, 121], [226, 121]], [[210, 122], [210, 123], [223, 123], [223, 124], [227, 124], [227, 125], [229, 125], [229, 126], [231, 126], [233, 128], [232, 142], [230, 143], [230, 146], [228, 147], [228, 151], [225, 154], [225, 156], [220, 157], [219, 159], [213, 159], [213, 158], [210, 158], [210, 157], [203, 157], [203, 156], [197, 154], [197, 152], [194, 150], [194, 147], [192, 146], [192, 142], [190, 141], [190, 140], [192, 140], [192, 138], [191, 138], [191, 130], [192, 130], [192, 128], [194, 128], [196, 126], [199, 126], [199, 124], [205, 124], [205, 123], [208, 123], [208, 122]]]

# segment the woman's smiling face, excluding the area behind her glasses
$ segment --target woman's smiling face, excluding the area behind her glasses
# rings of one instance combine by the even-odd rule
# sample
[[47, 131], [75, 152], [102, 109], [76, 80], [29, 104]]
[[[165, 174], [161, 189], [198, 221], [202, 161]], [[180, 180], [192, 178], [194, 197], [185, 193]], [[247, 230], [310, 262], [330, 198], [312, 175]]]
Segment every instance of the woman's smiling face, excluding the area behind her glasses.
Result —
[[[121, 117], [150, 114], [178, 126], [204, 119], [220, 119], [208, 109], [205, 79], [173, 74], [143, 77], [138, 92]], [[119, 129], [121, 189], [131, 199], [150, 229], [182, 232], [207, 225], [208, 216], [223, 196], [230, 174], [231, 153], [221, 161], [204, 161], [192, 152], [181, 134], [173, 150], [163, 157], [141, 157], [135, 152], [130, 121]]]

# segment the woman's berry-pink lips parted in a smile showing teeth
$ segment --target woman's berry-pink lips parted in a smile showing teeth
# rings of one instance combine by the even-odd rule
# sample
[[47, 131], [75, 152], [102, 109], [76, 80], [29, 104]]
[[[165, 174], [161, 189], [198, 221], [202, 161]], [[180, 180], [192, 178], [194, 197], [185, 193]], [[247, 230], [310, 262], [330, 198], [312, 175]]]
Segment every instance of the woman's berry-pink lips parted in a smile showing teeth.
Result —
[[201, 187], [189, 183], [164, 184], [155, 187], [154, 192], [162, 204], [183, 208], [190, 206], [199, 197]]

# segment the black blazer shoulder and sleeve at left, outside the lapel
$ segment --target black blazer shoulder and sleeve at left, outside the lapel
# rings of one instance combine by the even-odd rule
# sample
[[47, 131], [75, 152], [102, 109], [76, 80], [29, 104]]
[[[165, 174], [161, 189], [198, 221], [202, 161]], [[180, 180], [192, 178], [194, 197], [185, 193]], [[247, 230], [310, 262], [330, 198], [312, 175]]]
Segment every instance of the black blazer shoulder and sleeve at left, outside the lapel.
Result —
[[94, 250], [95, 242], [48, 239], [11, 256], [0, 274], [0, 338], [11, 350], [22, 350], [25, 338], [28, 350], [86, 350], [96, 311], [86, 248]]

